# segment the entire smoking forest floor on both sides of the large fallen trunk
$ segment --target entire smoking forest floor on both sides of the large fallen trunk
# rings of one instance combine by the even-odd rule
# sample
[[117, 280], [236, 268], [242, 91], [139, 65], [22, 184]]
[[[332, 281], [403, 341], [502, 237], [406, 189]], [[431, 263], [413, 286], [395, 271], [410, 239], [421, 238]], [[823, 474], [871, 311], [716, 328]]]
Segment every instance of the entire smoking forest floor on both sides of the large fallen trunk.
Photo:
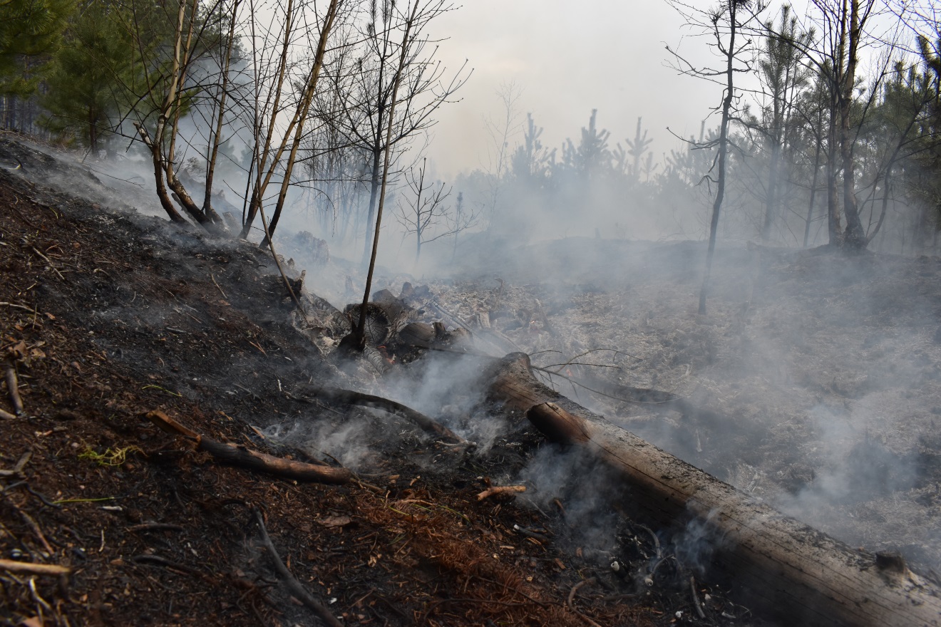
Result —
[[[256, 511], [345, 625], [764, 624], [730, 600], [734, 581], [691, 590], [697, 556], [663, 559], [672, 532], [633, 521], [582, 460], [488, 407], [472, 361], [395, 364], [387, 377], [345, 365], [328, 323], [299, 323], [269, 254], [136, 214], [72, 161], [0, 139], [0, 164], [22, 165], [0, 169], [0, 358], [24, 405], [0, 417], [0, 559], [70, 570], [0, 568], [0, 624], [315, 623], [279, 580]], [[304, 250], [285, 248], [305, 265]], [[555, 379], [686, 461], [931, 576], [941, 263], [733, 248], [703, 317], [701, 256], [694, 243], [563, 240], [469, 259], [473, 273], [427, 293], [499, 332], [494, 348], [687, 400], [698, 409]], [[341, 305], [346, 274], [359, 278], [311, 259], [307, 289]], [[375, 289], [398, 293], [403, 278]], [[311, 400], [311, 384], [400, 400], [476, 447]], [[4, 392], [0, 409], [14, 413]], [[154, 410], [216, 440], [342, 462], [359, 479], [219, 465], [157, 430]], [[478, 500], [508, 484], [528, 490]]]

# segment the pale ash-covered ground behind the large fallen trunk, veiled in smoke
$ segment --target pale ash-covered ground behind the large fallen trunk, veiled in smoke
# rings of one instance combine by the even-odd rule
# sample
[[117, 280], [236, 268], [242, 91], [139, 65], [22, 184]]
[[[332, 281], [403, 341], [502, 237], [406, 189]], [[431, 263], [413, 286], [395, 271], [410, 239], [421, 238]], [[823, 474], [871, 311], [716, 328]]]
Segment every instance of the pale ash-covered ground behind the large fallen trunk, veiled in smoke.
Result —
[[[941, 572], [941, 260], [726, 243], [700, 316], [704, 257], [704, 243], [563, 239], [489, 251], [433, 289], [617, 424]], [[686, 402], [622, 402], [616, 384]]]

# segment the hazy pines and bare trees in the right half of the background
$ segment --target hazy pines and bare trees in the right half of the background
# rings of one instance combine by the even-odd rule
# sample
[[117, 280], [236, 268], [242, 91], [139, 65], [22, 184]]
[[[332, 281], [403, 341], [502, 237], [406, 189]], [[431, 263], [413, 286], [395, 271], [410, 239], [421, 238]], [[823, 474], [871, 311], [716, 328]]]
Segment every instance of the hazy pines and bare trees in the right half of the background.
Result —
[[[730, 19], [741, 34], [730, 89], [725, 56], [701, 72], [722, 88], [716, 118], [729, 99], [720, 238], [906, 254], [937, 246], [941, 35], [929, 8], [817, 0], [806, 16], [784, 4], [766, 18], [768, 8], [723, 0], [688, 17], [720, 43], [729, 41]], [[685, 59], [677, 67], [693, 73]], [[492, 217], [491, 228], [526, 234], [550, 215], [563, 230], [617, 237], [709, 235], [718, 126], [704, 123], [665, 154], [641, 118], [632, 137], [617, 140], [592, 111], [581, 133], [551, 149], [532, 115], [521, 126], [505, 170], [491, 165], [455, 180]]]

